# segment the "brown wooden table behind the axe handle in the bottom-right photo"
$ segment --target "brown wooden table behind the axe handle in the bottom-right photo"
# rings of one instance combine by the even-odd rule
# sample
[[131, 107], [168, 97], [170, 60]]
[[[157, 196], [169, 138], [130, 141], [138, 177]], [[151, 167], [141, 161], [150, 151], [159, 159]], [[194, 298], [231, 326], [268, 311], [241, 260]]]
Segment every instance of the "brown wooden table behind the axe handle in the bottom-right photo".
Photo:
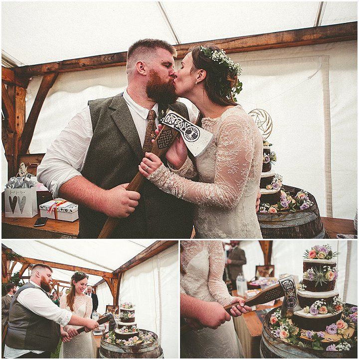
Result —
[[[237, 290], [232, 291], [232, 296], [238, 296]], [[282, 302], [277, 300], [274, 306], [257, 305], [258, 310], [273, 309], [282, 306]], [[259, 345], [262, 337], [263, 324], [255, 311], [249, 312], [237, 318], [233, 318], [234, 329], [238, 339], [242, 344], [244, 358], [260, 358]]]

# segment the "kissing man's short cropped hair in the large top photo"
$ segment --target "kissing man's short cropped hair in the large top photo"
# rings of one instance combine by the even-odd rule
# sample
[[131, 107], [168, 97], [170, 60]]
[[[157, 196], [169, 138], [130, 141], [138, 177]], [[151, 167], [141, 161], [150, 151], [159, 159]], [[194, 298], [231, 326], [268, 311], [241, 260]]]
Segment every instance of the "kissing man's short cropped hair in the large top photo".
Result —
[[165, 40], [160, 40], [160, 39], [137, 40], [129, 47], [127, 51], [126, 70], [134, 65], [132, 63], [132, 60], [136, 60], [141, 55], [148, 56], [158, 48], [167, 50], [174, 57], [177, 56], [176, 48]]

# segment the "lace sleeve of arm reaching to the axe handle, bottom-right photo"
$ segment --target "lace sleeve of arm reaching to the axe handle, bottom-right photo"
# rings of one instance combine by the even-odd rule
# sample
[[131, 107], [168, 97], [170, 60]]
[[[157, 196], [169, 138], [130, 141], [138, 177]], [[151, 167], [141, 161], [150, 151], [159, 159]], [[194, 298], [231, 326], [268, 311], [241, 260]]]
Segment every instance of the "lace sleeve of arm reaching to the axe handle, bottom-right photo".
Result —
[[229, 305], [233, 297], [229, 295], [223, 281], [224, 250], [220, 240], [208, 241], [209, 274], [208, 289], [214, 299], [222, 306]]

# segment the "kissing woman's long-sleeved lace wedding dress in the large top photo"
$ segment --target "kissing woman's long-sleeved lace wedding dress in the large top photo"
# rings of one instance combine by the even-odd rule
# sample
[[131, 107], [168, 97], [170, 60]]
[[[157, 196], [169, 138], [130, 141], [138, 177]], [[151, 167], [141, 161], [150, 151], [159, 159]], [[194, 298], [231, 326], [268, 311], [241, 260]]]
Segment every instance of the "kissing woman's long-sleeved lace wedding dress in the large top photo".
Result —
[[[253, 119], [240, 105], [219, 118], [203, 118], [214, 137], [195, 160], [178, 171], [161, 165], [148, 180], [161, 190], [196, 204], [196, 238], [262, 238], [255, 202], [263, 162], [263, 142]], [[187, 179], [185, 179], [187, 178]]]

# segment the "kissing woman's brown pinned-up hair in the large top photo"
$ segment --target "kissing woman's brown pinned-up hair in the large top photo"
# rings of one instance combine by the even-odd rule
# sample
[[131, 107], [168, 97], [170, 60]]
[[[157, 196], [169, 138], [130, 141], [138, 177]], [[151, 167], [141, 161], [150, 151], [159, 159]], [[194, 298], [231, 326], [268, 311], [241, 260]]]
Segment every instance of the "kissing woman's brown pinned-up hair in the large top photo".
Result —
[[[204, 89], [208, 98], [219, 105], [237, 105], [233, 100], [232, 89], [238, 83], [238, 71], [234, 67], [214, 61], [210, 56], [214, 51], [220, 52], [221, 49], [217, 45], [209, 43], [203, 46], [193, 46], [188, 51], [192, 52], [193, 67], [191, 72], [198, 69], [207, 72], [204, 79]], [[231, 60], [229, 59], [229, 61]]]

